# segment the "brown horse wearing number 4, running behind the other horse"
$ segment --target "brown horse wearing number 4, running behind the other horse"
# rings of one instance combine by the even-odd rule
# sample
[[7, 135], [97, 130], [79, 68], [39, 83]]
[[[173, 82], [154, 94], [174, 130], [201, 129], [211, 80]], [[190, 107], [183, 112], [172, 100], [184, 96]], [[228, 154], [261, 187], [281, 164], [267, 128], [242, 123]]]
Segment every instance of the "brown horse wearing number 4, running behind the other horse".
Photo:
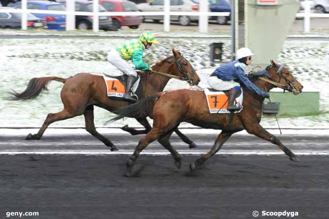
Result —
[[[183, 55], [173, 49], [173, 55], [165, 60], [162, 60], [152, 66], [153, 73], [145, 73], [141, 75], [142, 97], [148, 97], [155, 93], [163, 91], [171, 77], [176, 75], [176, 78], [188, 81], [190, 84], [196, 85], [200, 78], [196, 74], [191, 64], [183, 57]], [[165, 72], [165, 75], [157, 74]], [[61, 91], [61, 99], [64, 104], [64, 109], [58, 113], [49, 113], [44, 124], [39, 129], [37, 134], [29, 134], [27, 140], [39, 140], [43, 136], [48, 125], [55, 121], [72, 118], [84, 114], [86, 121], [86, 130], [94, 137], [102, 141], [111, 151], [117, 150], [116, 146], [104, 136], [96, 131], [94, 124], [94, 105], [102, 107], [108, 111], [113, 111], [119, 107], [129, 105], [125, 100], [113, 100], [107, 97], [106, 84], [103, 76], [93, 75], [89, 73], [80, 73], [73, 77], [40, 77], [32, 78], [26, 90], [22, 93], [15, 91], [9, 92], [12, 97], [9, 100], [33, 100], [43, 91], [47, 90], [47, 84], [51, 80], [57, 80], [64, 83]], [[137, 118], [145, 130], [135, 130], [127, 125], [122, 129], [127, 130], [133, 135], [146, 134], [151, 129], [150, 124], [145, 118]], [[176, 130], [176, 133], [182, 140], [189, 144], [190, 148], [196, 147], [195, 144], [186, 136]]]

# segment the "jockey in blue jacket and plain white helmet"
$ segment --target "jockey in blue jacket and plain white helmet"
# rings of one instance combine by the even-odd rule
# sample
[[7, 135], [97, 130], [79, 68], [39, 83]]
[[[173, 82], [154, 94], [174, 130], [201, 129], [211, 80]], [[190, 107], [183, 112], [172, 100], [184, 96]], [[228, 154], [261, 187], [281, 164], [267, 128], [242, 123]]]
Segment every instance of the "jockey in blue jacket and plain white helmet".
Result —
[[236, 111], [239, 107], [235, 106], [234, 100], [240, 94], [240, 84], [242, 82], [248, 89], [252, 90], [259, 96], [269, 98], [270, 94], [260, 90], [249, 78], [244, 74], [244, 69], [252, 63], [252, 55], [248, 48], [240, 48], [236, 52], [236, 60], [218, 67], [208, 78], [208, 84], [212, 89], [218, 91], [228, 91], [229, 99], [227, 110]]

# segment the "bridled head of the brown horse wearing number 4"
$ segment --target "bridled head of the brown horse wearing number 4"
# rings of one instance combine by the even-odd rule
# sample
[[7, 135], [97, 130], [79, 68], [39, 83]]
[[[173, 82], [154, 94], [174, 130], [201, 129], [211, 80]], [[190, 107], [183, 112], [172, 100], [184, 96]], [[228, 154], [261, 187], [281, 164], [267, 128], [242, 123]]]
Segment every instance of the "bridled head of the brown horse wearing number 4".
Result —
[[184, 58], [183, 54], [173, 48], [173, 54], [176, 64], [176, 75], [183, 77], [190, 85], [197, 85], [200, 78], [192, 65]]

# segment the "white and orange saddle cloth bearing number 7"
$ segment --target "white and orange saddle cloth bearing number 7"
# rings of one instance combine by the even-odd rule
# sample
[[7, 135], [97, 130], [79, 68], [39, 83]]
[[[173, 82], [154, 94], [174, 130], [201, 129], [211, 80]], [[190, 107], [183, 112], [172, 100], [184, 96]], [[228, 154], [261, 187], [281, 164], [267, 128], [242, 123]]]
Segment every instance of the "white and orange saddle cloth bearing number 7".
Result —
[[[207, 103], [210, 113], [230, 113], [227, 110], [228, 106], [228, 91], [216, 91], [213, 89], [206, 88], [203, 90], [205, 97], [207, 98]], [[234, 113], [239, 113], [242, 110], [243, 94], [241, 90], [241, 95], [235, 98], [235, 105], [240, 107], [239, 111], [234, 111]]]

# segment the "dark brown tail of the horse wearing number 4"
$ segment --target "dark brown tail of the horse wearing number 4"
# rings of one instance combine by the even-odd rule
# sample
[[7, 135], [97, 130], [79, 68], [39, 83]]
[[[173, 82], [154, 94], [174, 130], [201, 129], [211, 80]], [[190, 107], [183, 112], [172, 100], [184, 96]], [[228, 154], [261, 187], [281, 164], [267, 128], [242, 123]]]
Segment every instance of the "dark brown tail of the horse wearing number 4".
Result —
[[9, 97], [7, 100], [34, 100], [37, 98], [40, 93], [44, 90], [48, 91], [47, 84], [51, 80], [57, 80], [60, 82], [65, 83], [67, 78], [62, 77], [33, 77], [29, 82], [28, 85], [22, 93], [17, 93], [16, 91], [7, 92], [9, 94]]

